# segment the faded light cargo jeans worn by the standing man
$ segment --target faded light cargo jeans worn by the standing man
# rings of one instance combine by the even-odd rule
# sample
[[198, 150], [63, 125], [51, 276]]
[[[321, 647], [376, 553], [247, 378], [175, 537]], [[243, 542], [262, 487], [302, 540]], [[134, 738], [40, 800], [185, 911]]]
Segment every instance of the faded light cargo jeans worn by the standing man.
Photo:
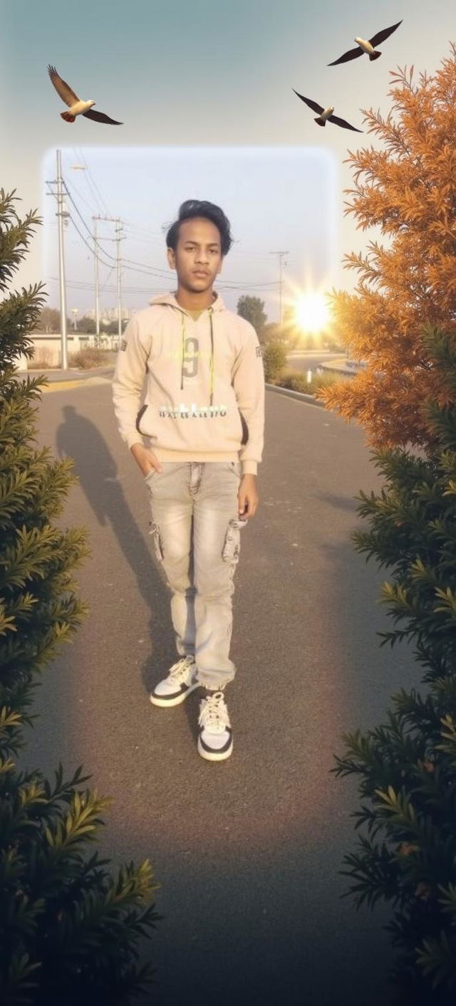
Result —
[[236, 674], [230, 659], [234, 575], [239, 561], [241, 462], [161, 462], [145, 477], [158, 568], [171, 592], [179, 657], [194, 656], [205, 688]]

